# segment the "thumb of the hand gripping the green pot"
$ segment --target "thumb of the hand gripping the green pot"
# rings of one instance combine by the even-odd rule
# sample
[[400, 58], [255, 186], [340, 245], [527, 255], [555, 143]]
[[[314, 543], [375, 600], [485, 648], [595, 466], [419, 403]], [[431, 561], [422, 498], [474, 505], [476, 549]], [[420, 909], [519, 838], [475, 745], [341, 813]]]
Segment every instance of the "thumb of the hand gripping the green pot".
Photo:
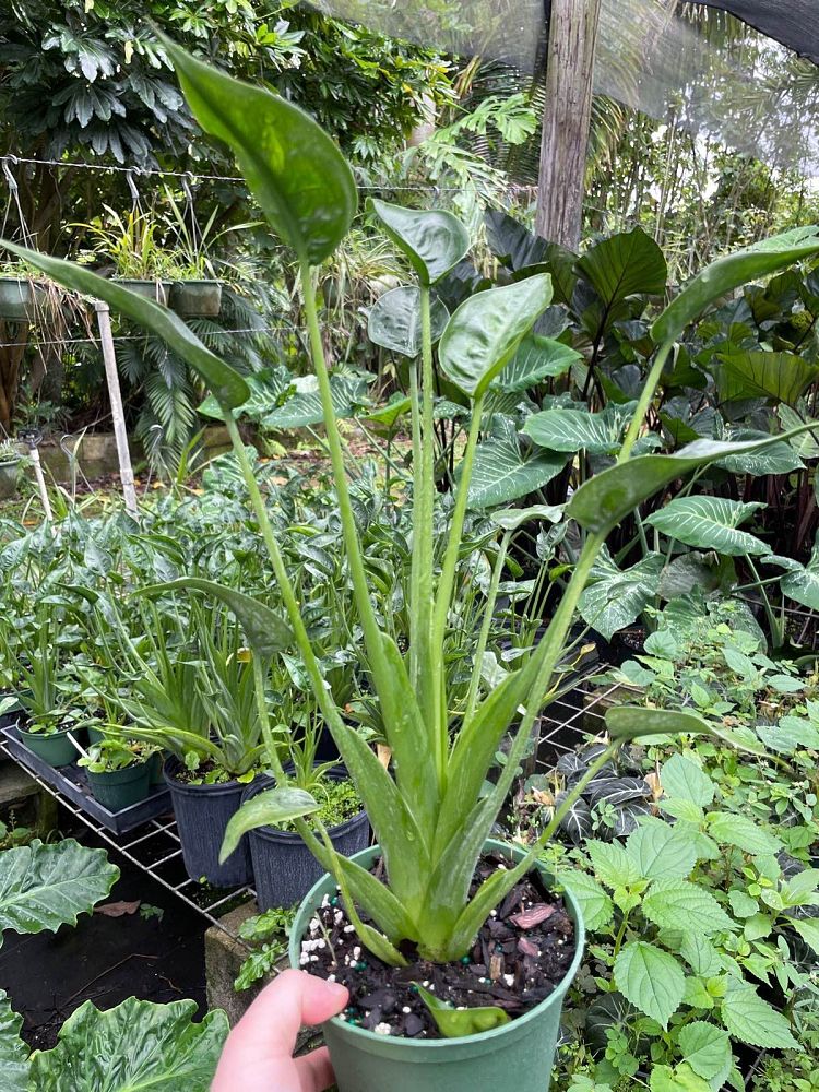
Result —
[[345, 1007], [349, 994], [336, 982], [306, 971], [283, 971], [265, 986], [234, 1029], [227, 1047], [247, 1059], [290, 1057], [305, 1024], [318, 1024]]

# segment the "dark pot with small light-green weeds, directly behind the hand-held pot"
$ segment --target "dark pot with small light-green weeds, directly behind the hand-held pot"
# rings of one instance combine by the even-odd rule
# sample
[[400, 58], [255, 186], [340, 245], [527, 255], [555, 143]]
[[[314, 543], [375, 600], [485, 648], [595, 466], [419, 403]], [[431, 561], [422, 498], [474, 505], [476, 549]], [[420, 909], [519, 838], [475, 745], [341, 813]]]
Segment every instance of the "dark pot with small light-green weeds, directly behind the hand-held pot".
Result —
[[[308, 715], [302, 713], [300, 719], [302, 725], [298, 737], [292, 727], [288, 733], [288, 784], [316, 798], [320, 805], [317, 815], [327, 827], [334, 850], [353, 856], [369, 844], [367, 814], [344, 767], [334, 762], [317, 762], [323, 729], [321, 720], [311, 712]], [[246, 790], [244, 802], [258, 798], [273, 784], [273, 778], [257, 779]], [[251, 815], [250, 807], [244, 808], [242, 821]], [[239, 828], [234, 826], [232, 839], [240, 834]], [[323, 869], [293, 823], [285, 821], [275, 827], [253, 827], [248, 838], [259, 909], [294, 906], [300, 902]], [[227, 848], [230, 848], [229, 842]]]

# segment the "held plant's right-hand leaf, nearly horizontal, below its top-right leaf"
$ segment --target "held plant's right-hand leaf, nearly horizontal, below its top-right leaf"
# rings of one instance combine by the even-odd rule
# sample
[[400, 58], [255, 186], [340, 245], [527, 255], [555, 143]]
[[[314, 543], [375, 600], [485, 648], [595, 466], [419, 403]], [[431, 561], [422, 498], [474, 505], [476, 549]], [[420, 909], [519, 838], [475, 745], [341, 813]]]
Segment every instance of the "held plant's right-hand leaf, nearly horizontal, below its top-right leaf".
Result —
[[677, 478], [726, 455], [761, 451], [773, 442], [774, 437], [743, 443], [695, 440], [670, 455], [638, 455], [585, 482], [572, 495], [566, 514], [587, 531], [608, 533], [643, 500]]

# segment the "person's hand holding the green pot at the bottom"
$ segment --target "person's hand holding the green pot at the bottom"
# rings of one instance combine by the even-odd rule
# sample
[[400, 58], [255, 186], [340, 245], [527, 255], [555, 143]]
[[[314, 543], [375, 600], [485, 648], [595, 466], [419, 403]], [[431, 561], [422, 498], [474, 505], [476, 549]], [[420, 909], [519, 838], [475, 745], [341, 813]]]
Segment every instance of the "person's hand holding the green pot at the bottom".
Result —
[[259, 994], [227, 1036], [211, 1092], [323, 1092], [335, 1078], [327, 1047], [294, 1058], [305, 1024], [319, 1024], [346, 1006], [337, 982], [283, 971]]

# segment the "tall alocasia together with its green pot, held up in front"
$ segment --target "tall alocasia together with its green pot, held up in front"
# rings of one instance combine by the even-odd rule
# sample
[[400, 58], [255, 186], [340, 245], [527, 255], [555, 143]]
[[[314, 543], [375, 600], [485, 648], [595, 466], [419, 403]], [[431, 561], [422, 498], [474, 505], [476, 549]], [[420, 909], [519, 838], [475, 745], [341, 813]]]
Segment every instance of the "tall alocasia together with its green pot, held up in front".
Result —
[[[417, 274], [417, 318], [423, 331], [420, 361], [416, 361], [410, 372], [414, 422], [414, 535], [408, 610], [411, 638], [406, 655], [402, 655], [395, 641], [380, 628], [369, 595], [312, 277], [312, 269], [333, 252], [353, 222], [357, 197], [352, 171], [332, 140], [307, 114], [286, 99], [235, 81], [190, 57], [173, 43], [167, 43], [166, 48], [197, 119], [205, 131], [234, 149], [253, 194], [298, 259], [357, 621], [392, 753], [389, 769], [379, 762], [365, 739], [345, 723], [324, 685], [276, 532], [236, 424], [234, 411], [249, 396], [247, 383], [178, 319], [169, 321], [166, 312], [138, 297], [124, 298], [123, 293], [115, 294], [117, 298], [110, 300], [110, 287], [104, 281], [98, 283], [88, 271], [70, 263], [29, 252], [24, 257], [72, 287], [102, 298], [108, 294], [109, 301], [120, 311], [164, 336], [185, 355], [222, 407], [286, 619], [266, 603], [215, 582], [182, 578], [169, 586], [187, 586], [212, 595], [226, 603], [240, 619], [252, 649], [251, 668], [259, 699], [264, 691], [265, 657], [295, 644], [321, 715], [333, 733], [372, 824], [378, 844], [371, 851], [356, 860], [333, 851], [323, 824], [305, 818], [314, 815], [320, 805], [309, 793], [288, 782], [270, 727], [266, 704], [259, 700], [265, 757], [275, 774], [276, 787], [254, 797], [245, 807], [252, 808], [253, 826], [293, 820], [328, 869], [328, 877], [320, 883], [330, 886], [333, 891], [337, 886], [340, 890], [340, 905], [332, 906], [334, 894], [327, 890], [321, 894], [320, 888], [313, 889], [305, 900], [290, 947], [296, 965], [307, 965], [313, 973], [332, 973], [354, 985], [353, 1011], [325, 1026], [340, 1089], [342, 1092], [382, 1092], [384, 1088], [400, 1088], [405, 1092], [436, 1089], [452, 1092], [468, 1087], [500, 1089], [511, 1084], [520, 1092], [544, 1092], [549, 1083], [562, 997], [582, 957], [583, 925], [579, 905], [571, 894], [571, 880], [565, 893], [555, 890], [545, 868], [538, 864], [539, 855], [563, 815], [582, 793], [586, 779], [592, 780], [626, 741], [642, 735], [708, 733], [712, 725], [689, 712], [632, 707], [612, 709], [606, 714], [609, 738], [598, 760], [567, 794], [532, 846], [526, 850], [507, 846], [502, 851], [506, 859], [498, 862], [499, 851], [490, 833], [514, 781], [520, 757], [529, 745], [535, 719], [551, 696], [555, 667], [563, 653], [591, 570], [610, 531], [643, 501], [678, 478], [732, 454], [762, 450], [776, 439], [772, 436], [734, 443], [699, 441], [670, 454], [632, 458], [675, 342], [713, 300], [737, 285], [819, 252], [819, 235], [816, 228], [797, 229], [727, 256], [696, 277], [660, 314], [652, 327], [656, 353], [615, 465], [586, 480], [562, 511], [562, 518], [575, 524], [582, 547], [544, 636], [523, 666], [513, 666], [490, 692], [478, 677], [477, 686], [470, 687], [466, 701], [453, 709], [446, 690], [443, 642], [459, 590], [467, 490], [483, 410], [492, 380], [512, 359], [522, 339], [549, 304], [550, 278], [541, 268], [535, 268], [529, 271], [531, 275], [511, 285], [478, 293], [459, 307], [443, 332], [438, 351], [439, 368], [468, 402], [471, 417], [446, 545], [436, 557], [430, 288], [464, 257], [470, 240], [465, 228], [447, 213], [407, 211], [373, 203], [373, 211], [387, 233]], [[264, 132], [264, 140], [259, 139], [260, 132]], [[266, 150], [271, 147], [281, 154], [269, 155]], [[809, 423], [798, 426], [780, 434], [779, 438], [796, 436], [810, 427]], [[473, 665], [478, 676], [482, 666]], [[486, 773], [500, 741], [510, 732], [507, 763], [497, 782], [485, 793]], [[234, 823], [246, 824], [246, 818], [238, 817]], [[519, 899], [523, 899], [523, 907], [518, 922], [511, 923], [509, 902], [514, 904]], [[325, 901], [328, 905], [322, 905]], [[330, 909], [333, 928], [335, 913], [340, 911], [341, 922], [345, 917], [347, 922], [340, 925], [342, 931], [349, 926], [357, 937], [349, 954], [341, 959], [321, 935], [322, 928], [328, 928], [327, 911]], [[321, 916], [318, 935], [313, 935], [317, 912], [321, 912]], [[502, 918], [503, 930], [512, 930], [511, 936], [505, 931], [502, 941], [497, 941], [501, 952], [497, 945], [490, 948], [487, 939], [487, 935], [491, 937], [492, 929], [497, 929], [492, 926], [494, 913]], [[550, 942], [538, 946], [525, 934], [536, 930], [533, 936], [543, 936], [539, 926], [548, 921], [553, 922], [553, 928], [546, 929], [545, 935], [550, 937]], [[344, 936], [349, 937], [347, 933]], [[476, 978], [488, 977], [490, 986], [482, 993], [473, 989], [458, 1006], [448, 1006], [448, 995], [461, 996], [451, 983], [463, 981], [456, 976], [462, 975], [465, 961], [474, 961], [478, 939], [482, 951], [486, 943], [485, 970], [488, 973], [476, 975]], [[562, 940], [562, 946], [558, 940]], [[523, 965], [520, 976], [517, 960], [514, 972], [502, 972], [509, 974], [509, 980], [503, 978], [503, 987], [511, 999], [503, 996], [495, 977], [498, 968], [503, 968], [507, 943], [512, 949], [510, 959], [518, 951], [534, 961]], [[568, 950], [554, 961], [556, 974], [547, 981], [544, 952], [556, 948]], [[341, 946], [337, 950], [341, 952]], [[629, 949], [627, 946], [624, 951], [629, 952], [630, 959], [640, 957], [639, 947]], [[371, 996], [373, 981], [393, 992], [401, 987], [402, 996], [415, 997], [417, 993], [426, 1008], [419, 1010], [419, 1004], [414, 1000], [414, 1011], [416, 1014], [428, 1011], [425, 1026], [442, 1037], [413, 1038], [399, 1026], [393, 1029], [389, 1021], [381, 1021], [372, 1030], [363, 1026], [366, 1009], [360, 1002]], [[530, 988], [532, 983], [537, 988]], [[408, 989], [413, 984], [415, 993]], [[429, 984], [436, 986], [435, 992], [428, 988]], [[486, 989], [485, 982], [480, 985]], [[403, 993], [405, 986], [406, 994]], [[480, 1004], [480, 997], [487, 995], [494, 1004]], [[411, 1005], [404, 1007], [413, 1011]], [[510, 1018], [510, 1010], [513, 1018]]]

